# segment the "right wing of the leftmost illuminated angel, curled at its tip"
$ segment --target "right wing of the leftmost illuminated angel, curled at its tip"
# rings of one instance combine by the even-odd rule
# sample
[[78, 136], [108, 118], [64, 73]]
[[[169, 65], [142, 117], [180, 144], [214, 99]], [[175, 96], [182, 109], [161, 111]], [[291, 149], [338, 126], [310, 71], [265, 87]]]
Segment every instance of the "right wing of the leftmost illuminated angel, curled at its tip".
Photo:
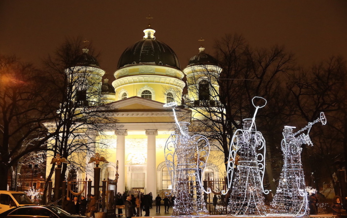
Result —
[[[204, 171], [206, 169], [206, 163], [209, 158], [211, 146], [209, 143], [209, 140], [203, 136], [203, 135], [193, 135], [192, 136], [193, 141], [195, 141], [196, 145], [196, 169], [197, 169], [197, 181], [200, 184], [200, 187], [202, 187], [202, 190], [209, 194], [211, 193], [211, 188], [207, 188], [205, 190], [203, 188], [203, 181], [202, 181], [202, 175], [204, 174]], [[200, 173], [201, 170], [201, 173]]]

